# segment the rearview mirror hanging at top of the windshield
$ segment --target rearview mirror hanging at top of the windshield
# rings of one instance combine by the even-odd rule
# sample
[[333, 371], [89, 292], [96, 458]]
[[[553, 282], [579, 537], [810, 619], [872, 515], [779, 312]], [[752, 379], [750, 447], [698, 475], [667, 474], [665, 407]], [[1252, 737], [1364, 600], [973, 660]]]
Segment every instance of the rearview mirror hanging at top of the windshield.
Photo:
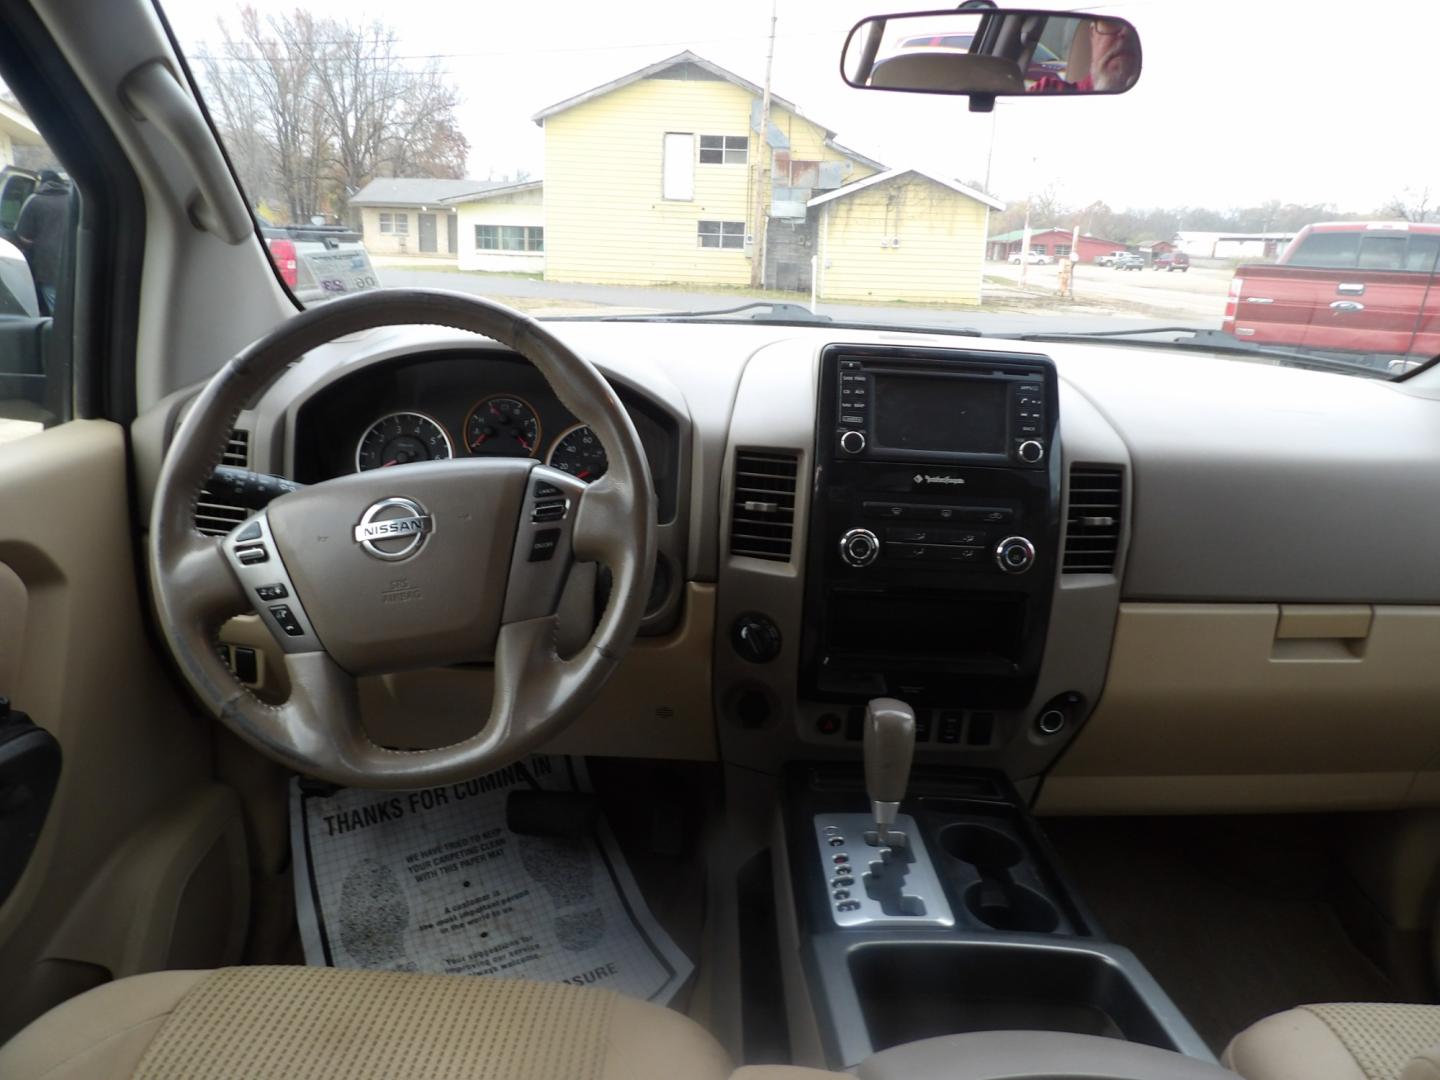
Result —
[[1008, 10], [906, 12], [855, 23], [840, 62], [860, 89], [996, 96], [1125, 94], [1140, 78], [1140, 36], [1113, 16]]

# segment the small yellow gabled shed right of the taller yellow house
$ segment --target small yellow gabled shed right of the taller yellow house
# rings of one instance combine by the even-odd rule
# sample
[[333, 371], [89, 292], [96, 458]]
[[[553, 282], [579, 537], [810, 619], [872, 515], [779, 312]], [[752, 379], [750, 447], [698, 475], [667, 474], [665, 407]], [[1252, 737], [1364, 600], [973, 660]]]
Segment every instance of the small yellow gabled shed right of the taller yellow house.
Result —
[[821, 300], [979, 305], [991, 210], [984, 192], [893, 168], [818, 194]]

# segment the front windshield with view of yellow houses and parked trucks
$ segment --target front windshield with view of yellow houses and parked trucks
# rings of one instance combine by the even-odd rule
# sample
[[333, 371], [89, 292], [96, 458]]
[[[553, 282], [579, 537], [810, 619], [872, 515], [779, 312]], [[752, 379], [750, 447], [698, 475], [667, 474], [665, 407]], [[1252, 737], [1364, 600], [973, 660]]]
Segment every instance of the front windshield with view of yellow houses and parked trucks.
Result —
[[[1129, 92], [982, 112], [845, 85], [874, 0], [164, 7], [304, 304], [439, 287], [539, 317], [1168, 327], [1146, 340], [1380, 376], [1440, 354], [1427, 76], [1362, 48], [1351, 9], [1097, 4], [1143, 40]], [[912, 29], [920, 53], [979, 48]], [[1027, 85], [1080, 85], [1087, 53], [1037, 45]]]

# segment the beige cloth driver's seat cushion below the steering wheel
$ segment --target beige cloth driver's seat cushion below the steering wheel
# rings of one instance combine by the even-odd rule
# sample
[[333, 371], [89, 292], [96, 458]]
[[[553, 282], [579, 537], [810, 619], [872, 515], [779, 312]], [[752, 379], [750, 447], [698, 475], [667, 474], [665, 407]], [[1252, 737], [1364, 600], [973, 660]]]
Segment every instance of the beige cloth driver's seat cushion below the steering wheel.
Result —
[[4, 1080], [727, 1080], [730, 1070], [698, 1024], [612, 991], [300, 966], [120, 979], [0, 1048]]

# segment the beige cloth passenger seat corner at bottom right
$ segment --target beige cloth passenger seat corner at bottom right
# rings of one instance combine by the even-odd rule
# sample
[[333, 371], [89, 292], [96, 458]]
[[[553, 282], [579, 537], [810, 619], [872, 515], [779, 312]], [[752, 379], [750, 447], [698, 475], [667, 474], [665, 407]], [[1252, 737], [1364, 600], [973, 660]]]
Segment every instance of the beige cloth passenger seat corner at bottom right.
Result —
[[1440, 1005], [1302, 1005], [1236, 1035], [1246, 1080], [1440, 1080]]

